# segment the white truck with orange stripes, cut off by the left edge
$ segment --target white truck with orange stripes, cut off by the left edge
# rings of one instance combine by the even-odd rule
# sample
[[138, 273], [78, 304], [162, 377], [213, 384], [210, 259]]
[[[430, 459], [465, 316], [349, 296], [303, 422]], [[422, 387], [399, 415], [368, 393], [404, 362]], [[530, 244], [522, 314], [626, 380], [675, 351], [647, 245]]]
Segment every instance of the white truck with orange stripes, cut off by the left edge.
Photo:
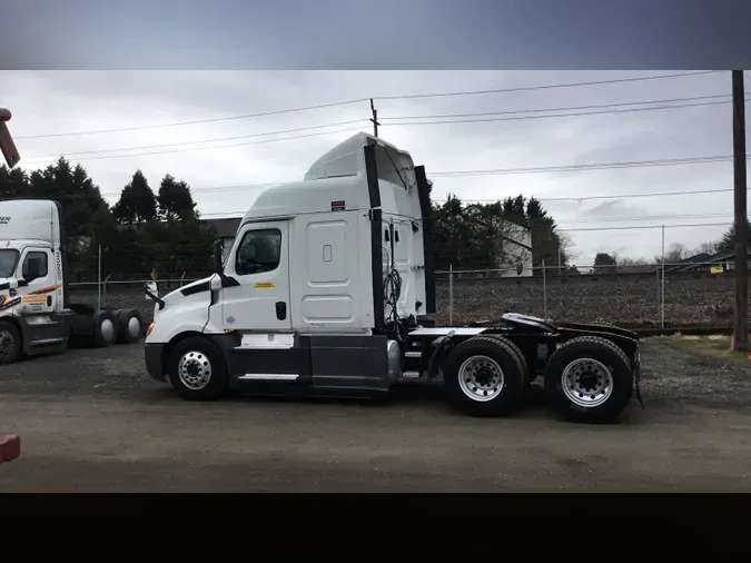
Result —
[[142, 336], [135, 308], [69, 303], [63, 217], [57, 201], [0, 201], [0, 364], [69, 344], [110, 346]]

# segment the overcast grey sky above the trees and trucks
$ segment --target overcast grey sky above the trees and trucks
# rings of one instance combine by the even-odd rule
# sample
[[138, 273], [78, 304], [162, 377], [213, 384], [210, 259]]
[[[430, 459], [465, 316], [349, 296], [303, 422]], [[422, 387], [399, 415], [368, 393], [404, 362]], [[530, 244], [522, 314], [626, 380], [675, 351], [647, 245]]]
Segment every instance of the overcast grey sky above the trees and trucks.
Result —
[[[205, 216], [216, 217], [244, 213], [258, 194], [259, 185], [300, 179], [307, 167], [328, 148], [358, 130], [370, 131], [368, 102], [135, 131], [122, 129], [369, 97], [508, 89], [674, 72], [3, 71], [0, 72], [0, 106], [13, 112], [10, 126], [18, 138], [22, 167], [43, 167], [57, 156], [66, 155], [88, 169], [110, 203], [117, 200], [136, 169], [146, 174], [155, 190], [161, 177], [169, 172], [190, 184]], [[747, 82], [750, 79], [747, 73]], [[550, 198], [732, 189], [730, 160], [458, 178], [441, 174], [730, 156], [730, 103], [594, 115], [623, 110], [626, 106], [593, 108], [572, 111], [590, 115], [557, 118], [540, 118], [550, 112], [537, 111], [695, 96], [727, 96], [709, 101], [729, 101], [729, 95], [730, 73], [722, 72], [577, 88], [388, 99], [377, 100], [376, 106], [382, 119], [381, 137], [411, 151], [417, 164], [426, 166], [438, 198], [443, 199], [448, 192], [466, 199], [534, 196], [543, 200], [563, 230], [663, 223], [729, 226], [732, 220], [730, 191], [582, 201]], [[683, 103], [686, 102], [664, 105]], [[442, 115], [522, 110], [535, 112], [483, 116], [481, 119], [495, 120], [475, 122], [431, 122], [441, 120], [435, 116]], [[412, 125], [392, 121], [419, 116], [427, 117], [404, 120]], [[522, 117], [524, 119], [520, 119]], [[360, 121], [350, 122], [355, 120]], [[337, 125], [343, 122], [345, 125]], [[329, 127], [315, 128], [318, 126]], [[115, 131], [23, 138], [102, 129]], [[123, 150], [150, 146], [158, 147]], [[695, 247], [717, 239], [725, 228], [724, 225], [668, 228], [665, 241]], [[591, 264], [597, 251], [651, 258], [661, 248], [660, 229], [571, 231], [570, 236], [575, 246], [574, 261], [581, 265]]]

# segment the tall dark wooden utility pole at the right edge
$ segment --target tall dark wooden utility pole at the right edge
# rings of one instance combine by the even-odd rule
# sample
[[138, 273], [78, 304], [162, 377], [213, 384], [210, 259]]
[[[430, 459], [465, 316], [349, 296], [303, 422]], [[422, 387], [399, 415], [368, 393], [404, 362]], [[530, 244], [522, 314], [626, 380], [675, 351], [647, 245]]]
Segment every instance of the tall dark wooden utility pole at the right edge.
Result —
[[749, 228], [745, 198], [745, 102], [743, 71], [732, 71], [733, 83], [733, 191], [735, 194], [735, 314], [732, 348], [749, 350]]

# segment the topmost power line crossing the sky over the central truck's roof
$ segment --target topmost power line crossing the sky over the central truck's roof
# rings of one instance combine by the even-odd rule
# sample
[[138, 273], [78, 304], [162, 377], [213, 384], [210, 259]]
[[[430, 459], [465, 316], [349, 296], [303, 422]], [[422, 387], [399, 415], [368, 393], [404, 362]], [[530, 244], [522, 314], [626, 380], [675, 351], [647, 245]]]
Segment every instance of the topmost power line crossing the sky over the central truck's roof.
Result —
[[698, 72], [678, 72], [678, 73], [670, 73], [670, 75], [654, 75], [654, 76], [648, 76], [648, 77], [629, 77], [629, 78], [619, 78], [619, 79], [610, 79], [610, 80], [593, 80], [593, 81], [584, 81], [584, 82], [563, 82], [563, 83], [553, 83], [553, 85], [526, 86], [526, 87], [517, 87], [517, 88], [496, 88], [496, 89], [488, 89], [488, 90], [468, 90], [468, 91], [454, 91], [454, 92], [428, 92], [428, 93], [393, 95], [393, 96], [369, 96], [369, 97], [366, 97], [366, 98], [357, 98], [357, 99], [350, 99], [350, 100], [344, 100], [344, 101], [335, 101], [335, 102], [329, 102], [329, 103], [319, 103], [319, 105], [316, 105], [316, 106], [287, 108], [287, 109], [280, 109], [280, 110], [275, 110], [275, 111], [263, 111], [263, 112], [257, 112], [257, 113], [244, 113], [244, 115], [238, 115], [238, 116], [228, 116], [228, 117], [219, 117], [219, 118], [210, 118], [210, 119], [196, 119], [196, 120], [191, 120], [191, 121], [178, 121], [178, 122], [171, 122], [171, 124], [159, 124], [159, 125], [149, 125], [149, 126], [120, 127], [120, 128], [98, 129], [98, 130], [90, 130], [90, 131], [69, 131], [69, 132], [45, 134], [45, 135], [17, 136], [16, 139], [17, 140], [21, 140], [21, 139], [23, 139], [23, 140], [26, 140], [26, 139], [42, 139], [42, 138], [52, 138], [52, 137], [71, 137], [71, 136], [81, 136], [81, 135], [101, 135], [101, 134], [110, 134], [110, 132], [140, 131], [140, 130], [147, 130], [147, 129], [159, 129], [159, 128], [165, 128], [165, 127], [182, 127], [182, 126], [190, 126], [190, 125], [211, 124], [211, 122], [219, 122], [219, 121], [231, 121], [231, 120], [238, 120], [238, 119], [250, 119], [250, 118], [257, 118], [257, 117], [276, 116], [276, 115], [281, 115], [281, 113], [293, 113], [293, 112], [309, 111], [309, 110], [315, 110], [315, 109], [333, 108], [333, 107], [338, 107], [338, 106], [360, 103], [360, 102], [368, 101], [369, 99], [374, 99], [374, 100], [406, 100], [406, 99], [417, 99], [417, 98], [443, 98], [443, 97], [454, 97], [454, 96], [476, 96], [476, 95], [482, 95], [482, 93], [507, 93], [507, 92], [521, 92], [521, 91], [533, 91], [533, 90], [549, 90], [549, 89], [556, 89], [556, 88], [576, 88], [576, 87], [585, 87], [585, 86], [600, 86], [600, 85], [613, 85], [613, 83], [624, 83], [624, 82], [638, 82], [638, 81], [660, 80], [660, 79], [668, 79], [668, 78], [682, 78], [682, 77], [715, 75], [715, 73], [719, 73], [719, 72], [723, 72], [723, 71], [708, 70], [708, 71], [698, 71]]

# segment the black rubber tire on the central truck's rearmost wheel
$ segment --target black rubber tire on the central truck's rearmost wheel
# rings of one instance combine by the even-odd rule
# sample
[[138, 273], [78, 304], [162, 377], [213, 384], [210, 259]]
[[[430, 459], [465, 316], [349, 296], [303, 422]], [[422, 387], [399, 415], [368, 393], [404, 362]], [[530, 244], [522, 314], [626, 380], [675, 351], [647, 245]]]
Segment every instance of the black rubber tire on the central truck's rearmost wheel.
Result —
[[[563, 375], [567, 366], [577, 359], [590, 358], [607, 368], [612, 382], [610, 394], [606, 391], [597, 391], [591, 395], [592, 406], [577, 404], [566, 395], [563, 388]], [[582, 366], [584, 377], [591, 373], [594, 366]], [[590, 369], [590, 372], [587, 372]], [[592, 375], [597, 382], [607, 382], [607, 375]], [[576, 394], [572, 388], [576, 383], [572, 382], [570, 392], [585, 399], [587, 393]], [[597, 383], [602, 385], [602, 383]], [[610, 424], [617, 421], [623, 409], [631, 401], [634, 388], [634, 375], [628, 356], [615, 344], [599, 336], [580, 336], [566, 342], [550, 358], [545, 366], [545, 394], [553, 408], [575, 422], [590, 424]], [[586, 389], [581, 389], [586, 391]]]

